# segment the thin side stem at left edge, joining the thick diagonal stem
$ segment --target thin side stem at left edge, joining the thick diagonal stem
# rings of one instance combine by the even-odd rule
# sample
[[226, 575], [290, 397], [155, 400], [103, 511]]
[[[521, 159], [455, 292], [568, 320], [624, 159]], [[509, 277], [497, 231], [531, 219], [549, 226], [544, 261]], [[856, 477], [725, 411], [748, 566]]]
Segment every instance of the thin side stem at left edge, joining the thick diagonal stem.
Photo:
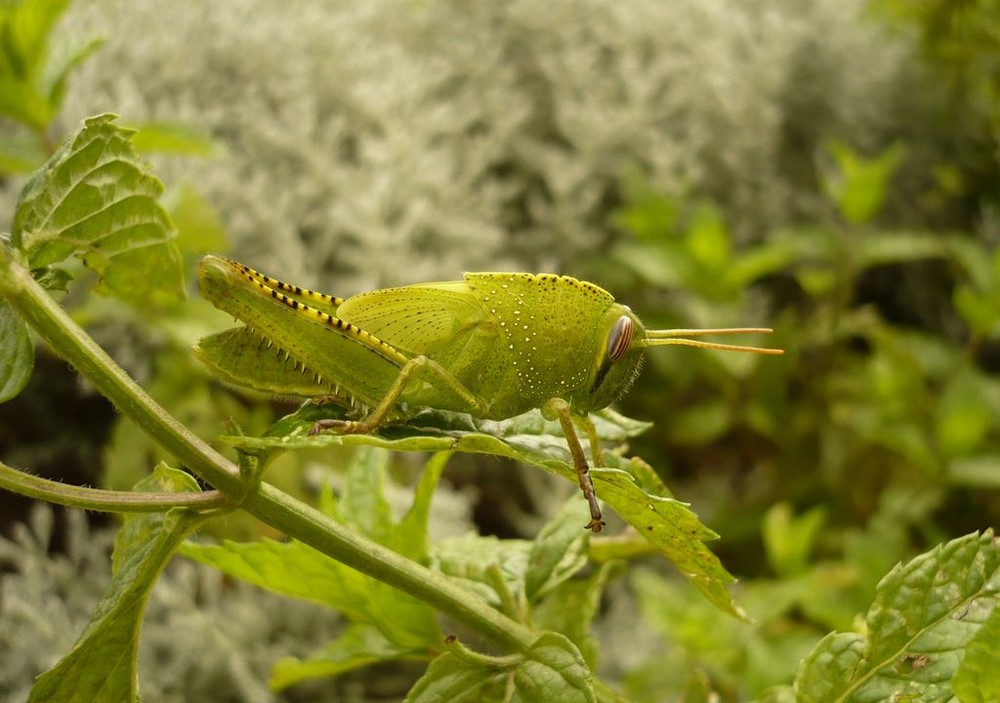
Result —
[[106, 491], [52, 481], [7, 466], [0, 461], [0, 488], [14, 493], [65, 505], [69, 508], [97, 510], [107, 513], [162, 513], [180, 506], [198, 511], [214, 510], [229, 505], [219, 491], [202, 493], [142, 493], [138, 491]]

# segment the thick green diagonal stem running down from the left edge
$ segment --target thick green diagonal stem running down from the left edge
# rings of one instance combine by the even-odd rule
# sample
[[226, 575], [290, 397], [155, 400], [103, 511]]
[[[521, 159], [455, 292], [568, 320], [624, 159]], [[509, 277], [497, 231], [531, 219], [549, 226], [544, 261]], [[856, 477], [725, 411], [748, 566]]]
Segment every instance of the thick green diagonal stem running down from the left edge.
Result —
[[473, 628], [504, 649], [525, 650], [534, 635], [524, 625], [415, 562], [355, 534], [273, 486], [248, 491], [239, 469], [192, 434], [126, 374], [0, 245], [0, 293], [46, 342], [127, 417], [226, 497], [289, 537], [409, 593]]

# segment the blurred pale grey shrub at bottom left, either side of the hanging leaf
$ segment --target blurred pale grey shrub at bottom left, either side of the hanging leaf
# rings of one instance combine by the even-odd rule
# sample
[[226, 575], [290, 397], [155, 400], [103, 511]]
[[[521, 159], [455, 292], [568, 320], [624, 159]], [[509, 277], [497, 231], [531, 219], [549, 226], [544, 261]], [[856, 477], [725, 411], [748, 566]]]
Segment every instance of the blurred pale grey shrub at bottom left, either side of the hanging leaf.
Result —
[[[0, 535], [0, 700], [25, 701], [37, 675], [68, 654], [111, 578], [114, 529], [92, 529], [66, 511], [65, 551], [55, 553], [54, 512], [40, 504], [15, 536]], [[294, 700], [268, 687], [283, 656], [305, 657], [335, 638], [337, 613], [234, 582], [174, 559], [143, 619], [139, 680], [144, 700]], [[333, 687], [309, 700], [343, 700]]]

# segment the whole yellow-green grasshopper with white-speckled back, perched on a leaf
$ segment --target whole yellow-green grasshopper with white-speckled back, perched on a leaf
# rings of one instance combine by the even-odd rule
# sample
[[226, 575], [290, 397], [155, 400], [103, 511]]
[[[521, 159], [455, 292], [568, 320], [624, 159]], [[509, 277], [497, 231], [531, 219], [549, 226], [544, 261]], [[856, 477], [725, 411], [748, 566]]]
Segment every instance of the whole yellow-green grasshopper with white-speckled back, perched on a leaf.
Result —
[[198, 277], [202, 295], [244, 323], [195, 348], [215, 374], [265, 393], [332, 400], [359, 418], [320, 420], [310, 434], [369, 433], [422, 408], [487, 420], [538, 408], [557, 419], [595, 533], [604, 522], [574, 424], [600, 466], [588, 416], [625, 392], [647, 347], [782, 353], [688, 339], [769, 329], [647, 330], [603, 288], [548, 273], [467, 273], [347, 299], [217, 256], [202, 260]]

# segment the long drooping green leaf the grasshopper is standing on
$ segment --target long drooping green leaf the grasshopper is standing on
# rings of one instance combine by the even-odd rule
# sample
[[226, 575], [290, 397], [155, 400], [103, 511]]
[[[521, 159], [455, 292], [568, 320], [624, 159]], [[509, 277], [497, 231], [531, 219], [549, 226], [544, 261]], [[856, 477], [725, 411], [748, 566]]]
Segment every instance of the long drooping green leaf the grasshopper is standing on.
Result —
[[[557, 459], [549, 452], [566, 456], [565, 442], [553, 435], [537, 436], [530, 443], [522, 435], [510, 435], [505, 431], [505, 422], [481, 423], [504, 439], [492, 434], [468, 430], [467, 417], [442, 412], [427, 412], [414, 418], [409, 425], [387, 427], [387, 436], [378, 435], [336, 435], [322, 434], [308, 436], [308, 431], [322, 412], [315, 406], [304, 406], [300, 413], [282, 419], [279, 424], [284, 436], [268, 437], [223, 437], [227, 444], [248, 453], [263, 453], [273, 450], [316, 449], [327, 446], [372, 445], [394, 451], [460, 451], [474, 454], [505, 456], [525, 464], [539, 467], [576, 483], [576, 471], [568, 460]], [[535, 411], [537, 413], [537, 411]], [[464, 419], [463, 419], [464, 418]], [[514, 418], [519, 431], [523, 430], [524, 419]], [[438, 424], [439, 430], [431, 434], [430, 425]], [[390, 438], [395, 437], [395, 438]], [[539, 447], [544, 447], [542, 451]], [[735, 579], [726, 571], [704, 544], [718, 535], [705, 527], [686, 504], [672, 498], [650, 495], [643, 491], [636, 479], [629, 473], [632, 462], [605, 452], [609, 467], [592, 469], [591, 476], [597, 495], [611, 505], [615, 511], [639, 534], [653, 543], [670, 559], [681, 573], [709, 598], [716, 606], [737, 617], [742, 617], [729, 593], [728, 585]], [[583, 498], [579, 498], [581, 511]]]

